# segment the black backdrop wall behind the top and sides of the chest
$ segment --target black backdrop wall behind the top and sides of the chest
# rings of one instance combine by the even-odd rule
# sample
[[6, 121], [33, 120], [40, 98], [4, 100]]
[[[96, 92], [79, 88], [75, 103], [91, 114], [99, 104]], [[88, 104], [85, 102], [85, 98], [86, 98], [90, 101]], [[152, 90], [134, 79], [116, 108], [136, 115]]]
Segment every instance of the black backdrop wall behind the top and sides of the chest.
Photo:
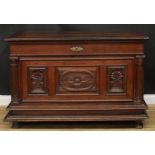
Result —
[[8, 43], [4, 38], [25, 30], [52, 30], [52, 31], [107, 31], [107, 32], [139, 32], [149, 36], [145, 44], [145, 65], [144, 65], [144, 93], [155, 93], [155, 25], [151, 24], [1, 24], [0, 25], [0, 95], [10, 94], [9, 82], [9, 60], [8, 60]]

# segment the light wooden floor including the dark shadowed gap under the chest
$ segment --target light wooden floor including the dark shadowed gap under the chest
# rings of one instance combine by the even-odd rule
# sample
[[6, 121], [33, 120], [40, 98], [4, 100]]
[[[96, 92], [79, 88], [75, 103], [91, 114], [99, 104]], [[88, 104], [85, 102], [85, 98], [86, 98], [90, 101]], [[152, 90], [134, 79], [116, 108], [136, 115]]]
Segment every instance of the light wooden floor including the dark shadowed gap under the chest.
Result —
[[[154, 131], [155, 130], [155, 105], [148, 105], [147, 110], [149, 119], [145, 120], [143, 129], [135, 128], [137, 122], [131, 121], [98, 121], [98, 122], [23, 122], [15, 123], [14, 128], [11, 128], [12, 123], [3, 121], [6, 115], [6, 107], [0, 106], [0, 130], [8, 131], [23, 131], [23, 130], [44, 130], [44, 131]], [[17, 128], [18, 127], [18, 128]]]

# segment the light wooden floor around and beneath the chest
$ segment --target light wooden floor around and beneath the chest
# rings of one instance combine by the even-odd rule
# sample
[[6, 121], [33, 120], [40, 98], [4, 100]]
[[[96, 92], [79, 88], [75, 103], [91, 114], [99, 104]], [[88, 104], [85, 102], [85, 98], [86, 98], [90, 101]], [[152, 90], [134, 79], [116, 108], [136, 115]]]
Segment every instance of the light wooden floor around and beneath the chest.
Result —
[[53, 124], [53, 126], [49, 126], [49, 125], [46, 125], [46, 126], [37, 126], [34, 127], [33, 124], [30, 124], [27, 128], [27, 126], [25, 127], [22, 127], [22, 128], [18, 128], [18, 129], [13, 129], [11, 128], [12, 126], [12, 123], [11, 122], [4, 122], [3, 119], [5, 117], [5, 114], [6, 114], [6, 107], [5, 106], [1, 106], [0, 107], [0, 130], [61, 130], [61, 131], [64, 131], [64, 130], [94, 130], [94, 131], [97, 131], [97, 130], [105, 130], [105, 131], [115, 131], [115, 130], [127, 130], [127, 131], [132, 131], [132, 130], [139, 130], [139, 131], [155, 131], [155, 105], [150, 105], [149, 106], [149, 109], [148, 109], [148, 114], [149, 114], [149, 119], [146, 119], [145, 120], [145, 123], [144, 123], [144, 127], [143, 129], [136, 129], [134, 127], [130, 127], [130, 128], [119, 128], [118, 125], [117, 126], [113, 126], [113, 127], [106, 127], [104, 126], [104, 123], [103, 124], [89, 124], [89, 125], [86, 125], [85, 123], [81, 123], [80, 125], [77, 123], [62, 123], [61, 125], [60, 124]]

